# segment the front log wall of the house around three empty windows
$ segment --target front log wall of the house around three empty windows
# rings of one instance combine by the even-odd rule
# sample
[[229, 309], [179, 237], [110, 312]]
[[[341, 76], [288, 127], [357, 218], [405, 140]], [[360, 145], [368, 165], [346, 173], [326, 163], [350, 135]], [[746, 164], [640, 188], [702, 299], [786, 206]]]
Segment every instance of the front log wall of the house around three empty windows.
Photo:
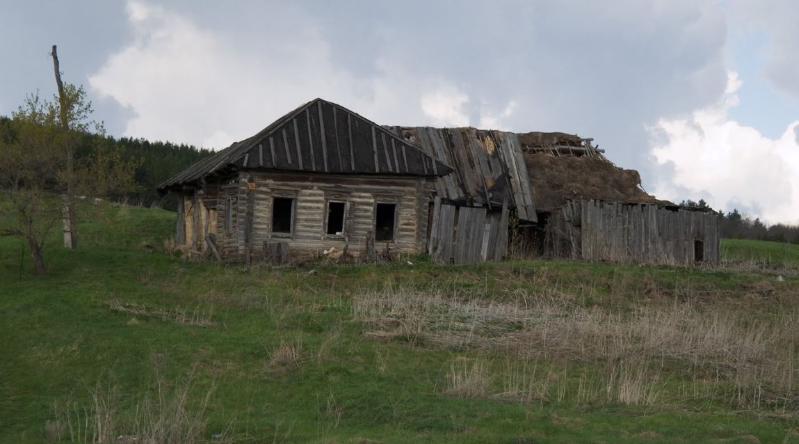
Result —
[[[424, 178], [296, 174], [240, 171], [235, 184], [221, 186], [217, 204], [217, 243], [222, 258], [247, 262], [263, 256], [264, 242], [285, 241], [292, 258], [320, 254], [335, 247], [366, 253], [369, 232], [375, 231], [376, 205], [395, 204], [394, 252], [417, 253], [427, 241], [429, 185]], [[274, 198], [290, 198], [290, 233], [272, 232]], [[328, 202], [344, 203], [342, 234], [327, 234]], [[231, 211], [230, 219], [227, 211]], [[225, 230], [231, 226], [231, 230]]]

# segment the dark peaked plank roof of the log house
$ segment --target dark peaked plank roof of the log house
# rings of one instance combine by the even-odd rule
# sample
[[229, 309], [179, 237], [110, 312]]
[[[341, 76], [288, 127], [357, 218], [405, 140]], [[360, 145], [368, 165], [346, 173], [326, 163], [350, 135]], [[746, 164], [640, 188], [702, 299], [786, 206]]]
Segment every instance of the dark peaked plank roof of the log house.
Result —
[[422, 177], [452, 171], [375, 122], [316, 98], [258, 134], [189, 166], [158, 190], [243, 169]]

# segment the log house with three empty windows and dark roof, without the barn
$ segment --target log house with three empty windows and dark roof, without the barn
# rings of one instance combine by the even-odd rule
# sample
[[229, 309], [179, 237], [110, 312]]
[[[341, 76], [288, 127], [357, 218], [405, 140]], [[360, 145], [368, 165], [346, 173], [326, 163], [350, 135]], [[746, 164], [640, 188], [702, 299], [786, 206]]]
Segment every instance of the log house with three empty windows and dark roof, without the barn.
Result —
[[178, 246], [226, 261], [284, 262], [331, 249], [423, 251], [429, 184], [450, 172], [382, 126], [317, 98], [159, 190], [180, 196]]

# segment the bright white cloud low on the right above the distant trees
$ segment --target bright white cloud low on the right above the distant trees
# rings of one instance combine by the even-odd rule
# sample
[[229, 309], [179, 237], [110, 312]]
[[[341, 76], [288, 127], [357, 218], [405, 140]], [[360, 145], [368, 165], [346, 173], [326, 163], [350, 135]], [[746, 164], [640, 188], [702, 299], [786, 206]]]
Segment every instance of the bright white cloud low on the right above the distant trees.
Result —
[[661, 119], [649, 128], [660, 167], [655, 194], [705, 198], [710, 206], [739, 206], [770, 222], [799, 220], [799, 141], [791, 123], [780, 138], [728, 119], [742, 82], [728, 74], [723, 98], [690, 118]]

